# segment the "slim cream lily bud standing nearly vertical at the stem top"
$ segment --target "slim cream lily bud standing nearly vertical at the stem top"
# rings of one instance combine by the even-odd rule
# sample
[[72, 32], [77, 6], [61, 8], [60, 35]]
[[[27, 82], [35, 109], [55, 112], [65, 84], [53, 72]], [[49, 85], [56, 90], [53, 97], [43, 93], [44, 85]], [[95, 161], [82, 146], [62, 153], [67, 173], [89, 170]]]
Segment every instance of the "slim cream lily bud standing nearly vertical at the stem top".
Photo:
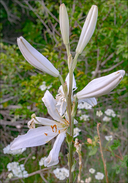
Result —
[[65, 4], [60, 5], [59, 22], [63, 42], [67, 45], [69, 43], [69, 19]]

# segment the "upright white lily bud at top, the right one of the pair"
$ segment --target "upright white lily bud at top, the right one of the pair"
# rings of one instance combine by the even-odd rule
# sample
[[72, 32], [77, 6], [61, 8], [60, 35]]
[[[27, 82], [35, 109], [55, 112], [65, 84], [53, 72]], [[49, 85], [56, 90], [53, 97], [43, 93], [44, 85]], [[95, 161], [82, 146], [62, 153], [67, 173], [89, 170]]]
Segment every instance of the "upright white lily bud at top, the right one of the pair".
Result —
[[98, 16], [98, 8], [96, 5], [93, 5], [87, 15], [84, 26], [82, 28], [80, 39], [76, 48], [76, 53], [78, 54], [82, 53], [84, 47], [91, 39], [92, 34], [95, 30], [97, 16]]

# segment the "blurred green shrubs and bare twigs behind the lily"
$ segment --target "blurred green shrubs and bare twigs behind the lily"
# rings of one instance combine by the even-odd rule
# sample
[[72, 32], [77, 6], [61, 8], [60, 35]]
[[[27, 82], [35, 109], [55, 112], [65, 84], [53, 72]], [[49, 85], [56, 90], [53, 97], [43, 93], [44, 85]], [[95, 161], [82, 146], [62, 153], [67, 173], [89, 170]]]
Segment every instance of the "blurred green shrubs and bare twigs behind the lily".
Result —
[[[12, 161], [25, 163], [28, 173], [35, 172], [41, 167], [39, 160], [47, 156], [54, 140], [41, 146], [28, 148], [22, 155], [13, 156], [3, 154], [7, 146], [18, 134], [25, 133], [27, 122], [31, 114], [47, 117], [47, 110], [41, 100], [45, 91], [39, 86], [46, 82], [52, 84], [49, 89], [55, 97], [60, 86], [58, 78], [42, 73], [32, 67], [20, 53], [16, 39], [23, 36], [66, 77], [68, 67], [66, 64], [66, 50], [62, 43], [59, 29], [59, 5], [65, 3], [70, 18], [70, 46], [74, 56], [75, 48], [84, 24], [86, 15], [93, 4], [98, 6], [98, 21], [96, 30], [84, 52], [79, 57], [77, 69], [74, 72], [77, 80], [77, 91], [81, 90], [92, 78], [107, 75], [116, 70], [124, 69], [127, 73], [127, 1], [126, 0], [2, 0], [1, 1], [1, 181], [10, 182], [42, 182], [41, 171], [26, 179], [13, 178], [8, 180], [7, 164]], [[92, 72], [95, 71], [95, 72]], [[98, 98], [98, 105], [93, 109], [83, 109], [82, 114], [90, 116], [89, 121], [81, 121], [77, 114], [77, 127], [81, 129], [78, 136], [82, 146], [82, 180], [92, 176], [92, 182], [97, 182], [90, 175], [89, 168], [104, 173], [103, 162], [100, 156], [99, 145], [87, 144], [87, 138], [96, 140], [97, 123], [101, 123], [100, 133], [102, 145], [105, 148], [107, 141], [105, 135], [112, 135], [114, 140], [104, 151], [109, 181], [112, 183], [127, 182], [127, 77], [109, 95]], [[96, 111], [103, 113], [106, 109], [113, 109], [118, 117], [104, 122], [102, 117], [96, 116]], [[49, 116], [48, 116], [49, 117]], [[60, 163], [56, 167], [66, 167], [68, 148], [63, 143], [60, 153]], [[118, 155], [120, 158], [115, 156]], [[36, 158], [33, 160], [32, 157]], [[78, 156], [74, 154], [76, 162], [74, 182], [78, 174]], [[45, 179], [50, 182], [61, 182], [51, 167], [43, 172]], [[42, 167], [43, 168], [43, 167]], [[63, 182], [63, 181], [62, 181]], [[103, 179], [101, 182], [105, 182]]]

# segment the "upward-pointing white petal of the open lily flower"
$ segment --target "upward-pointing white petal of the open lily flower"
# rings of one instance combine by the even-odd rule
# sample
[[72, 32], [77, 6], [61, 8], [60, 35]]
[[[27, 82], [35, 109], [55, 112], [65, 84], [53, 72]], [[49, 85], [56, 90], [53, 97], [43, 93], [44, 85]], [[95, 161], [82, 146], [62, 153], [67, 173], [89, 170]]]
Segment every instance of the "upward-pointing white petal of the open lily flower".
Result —
[[47, 107], [48, 113], [54, 120], [57, 120], [61, 123], [65, 123], [57, 110], [56, 100], [53, 98], [52, 94], [48, 90], [45, 92], [42, 101]]

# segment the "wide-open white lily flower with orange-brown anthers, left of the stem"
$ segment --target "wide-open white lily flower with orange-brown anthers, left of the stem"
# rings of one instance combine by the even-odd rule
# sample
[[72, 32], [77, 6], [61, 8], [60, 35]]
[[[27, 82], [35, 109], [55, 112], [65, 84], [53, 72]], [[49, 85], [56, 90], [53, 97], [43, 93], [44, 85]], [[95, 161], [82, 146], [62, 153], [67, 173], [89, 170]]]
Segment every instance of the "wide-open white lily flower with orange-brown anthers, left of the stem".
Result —
[[[19, 148], [44, 145], [57, 136], [53, 149], [51, 150], [49, 156], [44, 160], [44, 165], [49, 167], [56, 165], [59, 162], [59, 151], [66, 136], [69, 122], [59, 115], [56, 108], [56, 100], [48, 90], [45, 92], [42, 100], [47, 107], [48, 113], [54, 120], [34, 117], [29, 122], [29, 127], [31, 129], [25, 135], [19, 135], [16, 139], [14, 139], [14, 141], [10, 144], [10, 148], [11, 150], [15, 150]], [[42, 124], [44, 126], [34, 128], [34, 123]]]

